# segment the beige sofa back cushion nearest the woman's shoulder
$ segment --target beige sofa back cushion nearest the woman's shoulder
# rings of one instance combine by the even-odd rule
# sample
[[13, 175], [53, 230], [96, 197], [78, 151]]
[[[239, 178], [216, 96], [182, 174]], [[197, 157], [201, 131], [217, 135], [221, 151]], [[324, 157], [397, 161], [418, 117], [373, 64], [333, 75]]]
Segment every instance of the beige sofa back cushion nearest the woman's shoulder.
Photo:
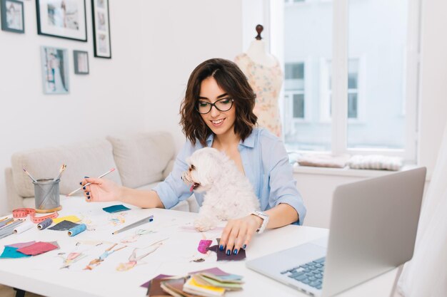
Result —
[[174, 158], [174, 140], [167, 132], [108, 136], [107, 140], [114, 147], [116, 166], [126, 187], [137, 188], [161, 181], [166, 166]]

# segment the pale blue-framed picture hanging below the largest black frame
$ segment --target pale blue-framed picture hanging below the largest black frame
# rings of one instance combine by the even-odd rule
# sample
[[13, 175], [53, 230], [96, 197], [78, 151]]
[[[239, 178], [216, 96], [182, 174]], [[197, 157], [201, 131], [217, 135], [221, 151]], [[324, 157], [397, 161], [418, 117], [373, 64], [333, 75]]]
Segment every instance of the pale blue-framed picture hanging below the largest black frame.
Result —
[[64, 48], [41, 47], [45, 94], [69, 93], [69, 57]]

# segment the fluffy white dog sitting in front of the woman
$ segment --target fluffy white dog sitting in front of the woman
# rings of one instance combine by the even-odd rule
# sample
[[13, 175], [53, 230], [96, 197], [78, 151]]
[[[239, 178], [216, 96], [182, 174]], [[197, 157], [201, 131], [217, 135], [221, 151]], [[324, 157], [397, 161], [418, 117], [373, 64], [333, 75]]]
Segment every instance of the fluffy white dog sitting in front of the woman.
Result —
[[191, 192], [206, 192], [199, 218], [194, 222], [197, 230], [213, 229], [219, 220], [245, 217], [259, 209], [250, 181], [223, 152], [204, 147], [186, 162], [189, 170], [181, 179], [191, 184]]

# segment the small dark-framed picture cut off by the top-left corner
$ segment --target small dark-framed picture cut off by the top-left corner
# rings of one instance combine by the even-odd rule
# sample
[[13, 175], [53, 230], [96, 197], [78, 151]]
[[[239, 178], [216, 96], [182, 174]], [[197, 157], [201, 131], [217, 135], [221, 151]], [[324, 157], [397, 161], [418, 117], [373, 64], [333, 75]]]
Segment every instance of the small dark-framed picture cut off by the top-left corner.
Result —
[[0, 0], [1, 30], [25, 33], [24, 4], [16, 0]]

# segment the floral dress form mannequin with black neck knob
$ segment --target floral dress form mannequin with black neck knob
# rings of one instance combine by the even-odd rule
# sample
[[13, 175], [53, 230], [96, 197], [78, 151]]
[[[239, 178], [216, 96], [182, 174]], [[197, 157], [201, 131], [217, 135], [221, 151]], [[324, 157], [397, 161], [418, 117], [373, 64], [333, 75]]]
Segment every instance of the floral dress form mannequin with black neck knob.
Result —
[[246, 75], [248, 83], [256, 93], [253, 113], [258, 117], [259, 127], [265, 127], [281, 137], [281, 118], [278, 98], [283, 83], [283, 73], [278, 59], [267, 52], [266, 43], [261, 39], [263, 26], [256, 26], [258, 36], [252, 41], [246, 53], [236, 56], [235, 62]]

